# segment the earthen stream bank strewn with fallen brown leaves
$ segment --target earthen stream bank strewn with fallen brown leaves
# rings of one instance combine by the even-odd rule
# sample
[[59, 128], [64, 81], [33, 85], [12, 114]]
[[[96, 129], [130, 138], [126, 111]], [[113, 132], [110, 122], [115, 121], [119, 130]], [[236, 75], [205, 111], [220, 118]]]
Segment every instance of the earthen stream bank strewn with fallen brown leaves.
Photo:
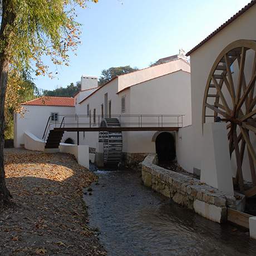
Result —
[[82, 200], [95, 175], [67, 154], [4, 155], [14, 205], [0, 213], [0, 255], [106, 255]]

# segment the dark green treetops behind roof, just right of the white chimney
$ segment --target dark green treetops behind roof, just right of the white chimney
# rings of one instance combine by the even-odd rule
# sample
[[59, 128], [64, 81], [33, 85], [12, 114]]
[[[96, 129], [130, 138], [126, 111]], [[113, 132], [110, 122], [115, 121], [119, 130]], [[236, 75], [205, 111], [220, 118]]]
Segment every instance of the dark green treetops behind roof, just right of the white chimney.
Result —
[[130, 66], [124, 66], [124, 67], [111, 67], [107, 70], [102, 70], [101, 77], [99, 79], [99, 85], [102, 86], [105, 83], [109, 82], [112, 78], [120, 75], [124, 75], [127, 73], [131, 73], [138, 70], [138, 68], [130, 67]]

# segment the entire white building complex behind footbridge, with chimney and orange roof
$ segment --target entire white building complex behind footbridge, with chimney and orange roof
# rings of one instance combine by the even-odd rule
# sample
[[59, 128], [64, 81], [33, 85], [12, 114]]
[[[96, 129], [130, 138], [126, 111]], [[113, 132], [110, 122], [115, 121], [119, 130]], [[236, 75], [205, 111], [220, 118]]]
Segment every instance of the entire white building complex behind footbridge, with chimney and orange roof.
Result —
[[[122, 116], [124, 126], [127, 123], [137, 125], [137, 116], [130, 115], [157, 115], [147, 120], [144, 117], [143, 122], [161, 122], [160, 115], [175, 115], [175, 117], [168, 117], [168, 120], [164, 117], [164, 122], [173, 122], [174, 126], [191, 125], [190, 64], [184, 57], [183, 51], [180, 51], [179, 55], [168, 58], [169, 61], [165, 60], [159, 65], [117, 76], [101, 87], [97, 86], [97, 77], [83, 75], [81, 91], [75, 95], [74, 99], [58, 97], [62, 105], [63, 101], [68, 101], [68, 106], [56, 104], [54, 97], [43, 97], [26, 102], [23, 107], [28, 111], [24, 118], [18, 114], [15, 117], [15, 146], [23, 146], [24, 132], [31, 132], [41, 139], [48, 117], [53, 114], [57, 114], [57, 121], [52, 120], [51, 128], [58, 127], [63, 116], [67, 116], [64, 120], [65, 127], [74, 125], [83, 127], [89, 119], [92, 127], [96, 127], [102, 117], [116, 115]], [[182, 120], [177, 120], [177, 115], [184, 116]], [[132, 159], [138, 163], [149, 152], [155, 152], [155, 141], [159, 133], [157, 131], [122, 132], [122, 152], [125, 159], [129, 163]], [[47, 136], [44, 139], [46, 138]], [[62, 142], [68, 138], [77, 143], [76, 132], [65, 132]], [[172, 132], [169, 139], [173, 143], [172, 150], [175, 155], [175, 132]], [[79, 144], [88, 145], [91, 153], [99, 151], [98, 142], [99, 132], [80, 132]]]

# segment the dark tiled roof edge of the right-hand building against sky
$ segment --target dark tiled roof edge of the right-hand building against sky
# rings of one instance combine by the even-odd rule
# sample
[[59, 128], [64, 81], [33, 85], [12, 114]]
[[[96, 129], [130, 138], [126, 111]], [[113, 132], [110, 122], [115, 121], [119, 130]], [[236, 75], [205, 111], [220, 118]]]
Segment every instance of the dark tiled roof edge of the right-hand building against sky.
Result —
[[206, 37], [203, 41], [201, 41], [198, 45], [196, 45], [193, 49], [191, 49], [188, 53], [186, 53], [186, 56], [191, 55], [191, 53], [193, 53], [195, 50], [197, 50], [199, 47], [201, 47], [202, 45], [204, 45], [204, 43], [206, 43], [207, 41], [209, 41], [211, 39], [211, 37], [214, 37], [216, 35], [216, 33], [220, 32], [221, 29], [225, 28], [228, 26], [228, 24], [230, 24], [231, 22], [233, 22], [236, 18], [238, 18], [239, 16], [241, 16], [244, 12], [246, 12], [250, 7], [254, 6], [254, 4], [256, 3], [256, 0], [252, 0], [251, 2], [249, 2], [243, 9], [240, 9], [239, 12], [235, 13], [234, 16], [232, 16], [230, 19], [228, 19], [228, 21], [226, 21], [225, 23], [223, 23], [220, 27], [218, 27], [215, 31], [213, 31], [213, 33], [211, 33], [208, 37]]

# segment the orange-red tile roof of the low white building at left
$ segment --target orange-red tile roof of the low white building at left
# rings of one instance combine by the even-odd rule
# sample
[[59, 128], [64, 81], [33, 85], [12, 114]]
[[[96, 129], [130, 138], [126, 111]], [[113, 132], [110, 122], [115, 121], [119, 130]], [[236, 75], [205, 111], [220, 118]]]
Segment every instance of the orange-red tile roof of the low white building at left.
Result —
[[75, 99], [71, 97], [43, 96], [35, 100], [24, 102], [21, 105], [75, 107]]

